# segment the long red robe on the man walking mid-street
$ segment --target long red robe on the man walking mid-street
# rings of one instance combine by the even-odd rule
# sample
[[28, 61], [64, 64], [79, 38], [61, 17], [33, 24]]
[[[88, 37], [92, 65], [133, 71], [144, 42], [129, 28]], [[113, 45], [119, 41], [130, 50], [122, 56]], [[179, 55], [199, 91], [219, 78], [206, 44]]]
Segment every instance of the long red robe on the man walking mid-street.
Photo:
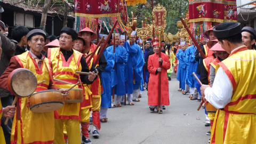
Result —
[[[167, 69], [170, 69], [171, 63], [167, 54], [161, 53], [162, 71], [161, 71], [161, 105], [169, 106], [169, 82], [167, 79]], [[159, 66], [158, 62], [159, 56], [154, 53], [148, 58], [148, 71], [150, 73], [149, 83], [148, 83], [148, 106], [158, 105], [158, 72], [157, 68]], [[157, 73], [157, 74], [156, 74]]]

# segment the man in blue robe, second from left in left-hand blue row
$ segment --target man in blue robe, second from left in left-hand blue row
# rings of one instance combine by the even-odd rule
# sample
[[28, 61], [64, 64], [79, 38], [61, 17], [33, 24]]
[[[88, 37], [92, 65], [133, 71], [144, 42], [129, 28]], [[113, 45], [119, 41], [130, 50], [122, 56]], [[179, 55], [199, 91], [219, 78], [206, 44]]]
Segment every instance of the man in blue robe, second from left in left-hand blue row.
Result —
[[114, 54], [114, 61], [115, 61], [115, 73], [116, 73], [115, 80], [117, 80], [117, 84], [115, 85], [115, 89], [114, 89], [115, 90], [114, 102], [112, 102], [112, 105], [111, 105], [111, 107], [113, 108], [121, 107], [122, 97], [125, 95], [124, 67], [125, 67], [125, 62], [127, 62], [127, 52], [126, 52], [126, 49], [119, 44], [120, 44], [120, 36], [116, 34], [115, 53], [114, 53], [113, 45], [109, 46], [106, 49], [108, 52]]

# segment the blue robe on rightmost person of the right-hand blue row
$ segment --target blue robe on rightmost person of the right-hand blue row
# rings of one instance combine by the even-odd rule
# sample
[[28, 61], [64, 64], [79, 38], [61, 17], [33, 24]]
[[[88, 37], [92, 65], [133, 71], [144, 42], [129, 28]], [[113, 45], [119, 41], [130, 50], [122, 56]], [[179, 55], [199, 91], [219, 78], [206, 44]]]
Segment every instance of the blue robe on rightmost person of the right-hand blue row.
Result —
[[193, 72], [196, 73], [198, 62], [195, 60], [196, 46], [189, 46], [184, 55], [184, 61], [187, 65], [186, 80], [189, 87], [196, 87], [196, 78], [193, 76]]

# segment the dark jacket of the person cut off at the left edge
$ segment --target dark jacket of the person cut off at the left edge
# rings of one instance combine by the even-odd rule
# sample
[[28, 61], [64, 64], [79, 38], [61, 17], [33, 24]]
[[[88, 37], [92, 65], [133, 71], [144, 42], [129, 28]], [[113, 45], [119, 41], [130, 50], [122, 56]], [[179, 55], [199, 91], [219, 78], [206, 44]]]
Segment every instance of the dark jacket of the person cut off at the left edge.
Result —
[[[0, 33], [0, 37], [2, 40], [2, 55], [0, 60], [0, 76], [4, 73], [5, 69], [9, 66], [10, 60], [13, 57], [15, 50], [16, 50], [16, 44], [17, 41], [13, 39], [7, 38], [5, 35]], [[0, 98], [8, 97], [8, 95], [11, 94], [9, 91], [5, 91], [0, 86]]]

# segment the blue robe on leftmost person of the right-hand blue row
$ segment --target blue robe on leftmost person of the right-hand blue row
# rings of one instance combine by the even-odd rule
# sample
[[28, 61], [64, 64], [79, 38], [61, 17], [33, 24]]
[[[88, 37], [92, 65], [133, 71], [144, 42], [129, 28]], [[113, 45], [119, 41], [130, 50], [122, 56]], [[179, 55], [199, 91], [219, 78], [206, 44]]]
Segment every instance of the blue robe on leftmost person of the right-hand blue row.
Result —
[[185, 90], [185, 79], [186, 79], [186, 63], [183, 60], [183, 55], [185, 52], [182, 50], [179, 50], [178, 53], [176, 54], [176, 58], [179, 60], [179, 70], [177, 74], [177, 81], [180, 81], [180, 87], [182, 90]]

